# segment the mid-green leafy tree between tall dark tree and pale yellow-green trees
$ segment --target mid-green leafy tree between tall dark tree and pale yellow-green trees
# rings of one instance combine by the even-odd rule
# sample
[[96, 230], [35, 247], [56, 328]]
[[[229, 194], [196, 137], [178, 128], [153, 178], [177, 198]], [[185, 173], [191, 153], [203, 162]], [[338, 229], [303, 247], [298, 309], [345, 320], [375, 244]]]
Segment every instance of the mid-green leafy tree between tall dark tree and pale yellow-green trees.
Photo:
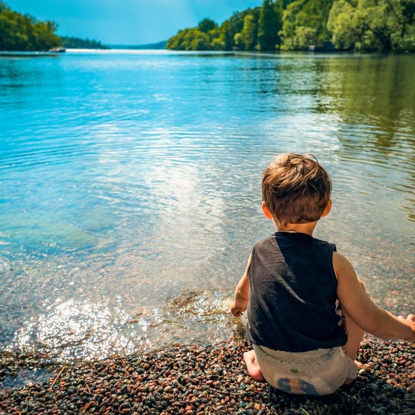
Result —
[[330, 41], [327, 19], [333, 0], [296, 0], [283, 13], [281, 49], [306, 50]]

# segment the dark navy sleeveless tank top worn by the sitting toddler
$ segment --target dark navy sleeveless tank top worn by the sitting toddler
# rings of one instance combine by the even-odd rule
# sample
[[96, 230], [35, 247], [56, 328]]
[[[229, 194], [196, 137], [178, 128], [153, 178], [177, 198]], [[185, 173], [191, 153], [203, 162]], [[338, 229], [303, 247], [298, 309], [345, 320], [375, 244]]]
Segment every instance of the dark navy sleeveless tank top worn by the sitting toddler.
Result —
[[304, 233], [276, 232], [252, 249], [247, 334], [259, 346], [307, 352], [342, 346], [336, 314], [335, 245]]

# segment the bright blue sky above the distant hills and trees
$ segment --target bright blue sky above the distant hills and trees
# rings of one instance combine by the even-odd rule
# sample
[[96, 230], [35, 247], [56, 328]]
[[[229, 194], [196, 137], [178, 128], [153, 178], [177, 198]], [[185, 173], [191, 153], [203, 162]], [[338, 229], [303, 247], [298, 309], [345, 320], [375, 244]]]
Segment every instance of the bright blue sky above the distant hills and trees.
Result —
[[205, 17], [221, 23], [234, 11], [262, 0], [5, 0], [13, 10], [38, 20], [54, 20], [61, 36], [105, 44], [143, 44], [167, 40]]

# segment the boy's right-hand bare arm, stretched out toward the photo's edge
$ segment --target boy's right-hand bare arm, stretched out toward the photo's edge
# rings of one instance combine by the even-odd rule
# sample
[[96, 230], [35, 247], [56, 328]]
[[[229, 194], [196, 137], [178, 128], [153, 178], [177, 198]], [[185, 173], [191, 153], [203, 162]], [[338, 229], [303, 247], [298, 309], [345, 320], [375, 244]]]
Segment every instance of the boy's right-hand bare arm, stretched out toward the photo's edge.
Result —
[[361, 329], [384, 339], [415, 340], [415, 323], [412, 319], [395, 317], [374, 304], [359, 283], [353, 266], [337, 252], [333, 252], [333, 268], [341, 307]]

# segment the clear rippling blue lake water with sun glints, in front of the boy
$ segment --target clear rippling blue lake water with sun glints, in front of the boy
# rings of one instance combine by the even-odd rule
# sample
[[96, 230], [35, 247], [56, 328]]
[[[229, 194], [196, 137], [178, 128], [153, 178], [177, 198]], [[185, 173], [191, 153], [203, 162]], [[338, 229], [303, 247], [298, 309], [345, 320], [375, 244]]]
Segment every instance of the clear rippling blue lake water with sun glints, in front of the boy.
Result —
[[0, 348], [64, 359], [230, 337], [281, 152], [330, 171], [316, 236], [414, 307], [415, 56], [0, 57]]

